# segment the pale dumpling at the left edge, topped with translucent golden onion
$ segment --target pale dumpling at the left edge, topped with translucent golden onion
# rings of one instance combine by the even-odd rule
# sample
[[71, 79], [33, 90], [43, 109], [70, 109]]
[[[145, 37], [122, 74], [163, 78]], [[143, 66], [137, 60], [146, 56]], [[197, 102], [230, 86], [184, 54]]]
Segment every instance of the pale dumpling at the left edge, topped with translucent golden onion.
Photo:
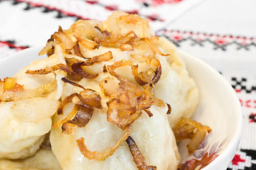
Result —
[[58, 84], [53, 74], [26, 74], [26, 70], [60, 62], [58, 55], [52, 55], [32, 62], [14, 77], [1, 81], [0, 158], [30, 157], [39, 149], [60, 104], [62, 82]]

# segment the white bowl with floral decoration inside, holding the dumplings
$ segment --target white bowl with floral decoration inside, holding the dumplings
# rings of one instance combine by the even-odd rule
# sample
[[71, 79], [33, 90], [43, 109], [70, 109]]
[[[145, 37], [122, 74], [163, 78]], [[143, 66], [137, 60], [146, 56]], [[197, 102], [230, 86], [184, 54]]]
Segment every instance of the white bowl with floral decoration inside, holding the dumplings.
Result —
[[[11, 77], [18, 72], [18, 69], [33, 60], [45, 57], [38, 57], [40, 50], [41, 47], [33, 47], [0, 60], [0, 78]], [[199, 105], [193, 119], [208, 125], [213, 130], [192, 155], [187, 153], [188, 141], [178, 144], [182, 162], [191, 159], [200, 160], [203, 154], [208, 152], [212, 153], [215, 159], [203, 170], [227, 169], [235, 156], [242, 135], [240, 102], [230, 84], [215, 69], [185, 52], [179, 53], [186, 62], [190, 76], [196, 81], [200, 93]]]

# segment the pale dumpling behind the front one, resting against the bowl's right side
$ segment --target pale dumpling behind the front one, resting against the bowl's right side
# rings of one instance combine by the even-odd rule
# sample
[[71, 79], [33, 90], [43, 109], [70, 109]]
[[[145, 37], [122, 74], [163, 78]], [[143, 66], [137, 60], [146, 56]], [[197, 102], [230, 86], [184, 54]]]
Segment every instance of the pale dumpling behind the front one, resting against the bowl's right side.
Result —
[[161, 66], [166, 70], [163, 69], [163, 74], [154, 87], [154, 92], [157, 97], [171, 105], [171, 114], [168, 115], [168, 119], [171, 128], [174, 128], [181, 118], [190, 118], [196, 111], [199, 98], [198, 87], [189, 77], [186, 66], [179, 57], [174, 44], [166, 38], [159, 38], [157, 45], [164, 53], [171, 55], [166, 56], [164, 60], [159, 58]]

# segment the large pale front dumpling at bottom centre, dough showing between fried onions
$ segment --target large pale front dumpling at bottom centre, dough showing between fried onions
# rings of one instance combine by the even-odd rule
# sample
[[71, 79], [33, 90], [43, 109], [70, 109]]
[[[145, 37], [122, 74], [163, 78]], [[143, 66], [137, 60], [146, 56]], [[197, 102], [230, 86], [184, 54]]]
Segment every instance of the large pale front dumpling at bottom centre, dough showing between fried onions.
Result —
[[[102, 96], [104, 94], [99, 90], [99, 81], [80, 81], [82, 86], [94, 89]], [[64, 91], [79, 92], [77, 87], [65, 86]], [[107, 106], [103, 106], [104, 108]], [[53, 123], [58, 123], [67, 116], [72, 110], [73, 104], [65, 106], [63, 115], [55, 115]], [[168, 108], [159, 108], [151, 106], [150, 111], [153, 116], [143, 112], [137, 120], [132, 123], [132, 132], [129, 134], [136, 142], [139, 150], [142, 152], [147, 165], [154, 165], [157, 169], [176, 169], [179, 164], [178, 147], [174, 133], [172, 132], [166, 116]], [[63, 170], [65, 169], [138, 169], [134, 163], [131, 152], [126, 142], [123, 142], [114, 154], [105, 160], [87, 159], [84, 157], [76, 140], [80, 137], [85, 138], [85, 145], [92, 152], [104, 152], [106, 149], [114, 147], [115, 143], [124, 135], [125, 130], [121, 130], [107, 121], [107, 115], [104, 111], [97, 109], [84, 128], [77, 128], [72, 135], [62, 132], [61, 127], [53, 128], [50, 131], [50, 143], [53, 153]]]

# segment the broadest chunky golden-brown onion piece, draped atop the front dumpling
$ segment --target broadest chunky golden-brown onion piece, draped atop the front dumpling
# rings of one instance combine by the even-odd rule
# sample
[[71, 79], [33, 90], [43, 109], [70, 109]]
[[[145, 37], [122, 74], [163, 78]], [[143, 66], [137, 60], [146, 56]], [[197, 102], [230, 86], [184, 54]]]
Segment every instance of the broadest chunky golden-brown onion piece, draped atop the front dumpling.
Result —
[[107, 77], [100, 82], [100, 89], [112, 98], [108, 102], [107, 120], [122, 129], [136, 120], [147, 104], [143, 103], [143, 91], [127, 80], [117, 84], [117, 81]]

